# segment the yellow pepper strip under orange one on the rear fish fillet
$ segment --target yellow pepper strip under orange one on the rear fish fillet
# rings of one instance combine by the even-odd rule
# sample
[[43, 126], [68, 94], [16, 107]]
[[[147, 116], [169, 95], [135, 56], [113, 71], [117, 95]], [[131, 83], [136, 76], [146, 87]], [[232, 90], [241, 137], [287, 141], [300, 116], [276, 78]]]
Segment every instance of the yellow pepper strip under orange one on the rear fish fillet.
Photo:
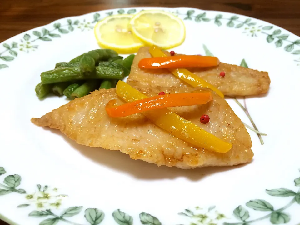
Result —
[[[150, 54], [153, 57], [166, 57], [165, 53], [163, 53], [163, 51], [155, 45], [150, 47]], [[223, 93], [219, 91], [215, 86], [199, 78], [196, 74], [191, 73], [187, 69], [169, 69], [169, 71], [173, 73], [175, 77], [183, 80], [184, 82], [188, 83], [193, 87], [210, 88], [211, 90], [216, 92], [220, 97], [224, 98]]]

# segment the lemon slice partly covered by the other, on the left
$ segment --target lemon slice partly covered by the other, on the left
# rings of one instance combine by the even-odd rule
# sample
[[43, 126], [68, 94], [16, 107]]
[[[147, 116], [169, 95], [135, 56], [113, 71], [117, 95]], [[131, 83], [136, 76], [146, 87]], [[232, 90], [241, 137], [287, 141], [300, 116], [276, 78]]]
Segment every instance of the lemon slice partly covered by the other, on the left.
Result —
[[95, 37], [101, 48], [113, 49], [120, 54], [135, 53], [143, 46], [131, 30], [133, 15], [115, 15], [104, 18], [94, 27]]

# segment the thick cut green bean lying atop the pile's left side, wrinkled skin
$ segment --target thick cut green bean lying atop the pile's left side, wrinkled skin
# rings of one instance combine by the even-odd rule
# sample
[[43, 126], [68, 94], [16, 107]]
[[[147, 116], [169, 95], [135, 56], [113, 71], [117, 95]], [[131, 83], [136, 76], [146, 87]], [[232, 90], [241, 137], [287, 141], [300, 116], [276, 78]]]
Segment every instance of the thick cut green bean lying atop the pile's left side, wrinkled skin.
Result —
[[60, 83], [85, 79], [80, 67], [57, 68], [41, 73], [42, 84]]

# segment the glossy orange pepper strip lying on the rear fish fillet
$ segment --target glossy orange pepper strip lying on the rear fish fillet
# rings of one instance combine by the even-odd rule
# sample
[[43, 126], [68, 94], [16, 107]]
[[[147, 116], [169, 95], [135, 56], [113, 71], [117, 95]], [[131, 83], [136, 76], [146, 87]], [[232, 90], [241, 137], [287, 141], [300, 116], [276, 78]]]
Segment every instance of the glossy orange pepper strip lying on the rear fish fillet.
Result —
[[217, 57], [198, 55], [176, 55], [167, 57], [143, 58], [138, 63], [141, 69], [213, 67], [219, 65]]

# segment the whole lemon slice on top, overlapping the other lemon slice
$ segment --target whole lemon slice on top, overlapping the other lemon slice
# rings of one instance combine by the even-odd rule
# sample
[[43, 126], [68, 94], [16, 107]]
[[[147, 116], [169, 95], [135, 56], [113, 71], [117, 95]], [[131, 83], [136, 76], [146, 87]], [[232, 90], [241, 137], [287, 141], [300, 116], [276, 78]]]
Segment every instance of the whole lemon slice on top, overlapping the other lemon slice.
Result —
[[183, 21], [169, 12], [146, 10], [130, 21], [131, 30], [147, 45], [168, 49], [181, 45], [185, 39]]

